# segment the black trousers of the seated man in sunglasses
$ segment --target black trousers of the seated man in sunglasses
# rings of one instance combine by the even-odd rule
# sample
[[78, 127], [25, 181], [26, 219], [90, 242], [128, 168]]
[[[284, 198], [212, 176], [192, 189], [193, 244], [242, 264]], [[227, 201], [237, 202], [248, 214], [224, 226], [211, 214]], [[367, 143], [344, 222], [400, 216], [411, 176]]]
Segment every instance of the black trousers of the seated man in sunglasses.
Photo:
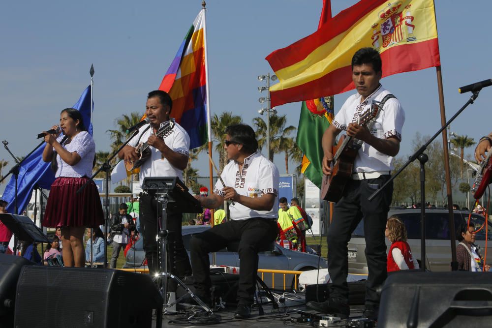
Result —
[[191, 266], [199, 296], [210, 295], [209, 253], [239, 240], [238, 303], [249, 305], [253, 301], [258, 272], [258, 248], [277, 239], [277, 221], [265, 218], [232, 220], [194, 236], [190, 242]]

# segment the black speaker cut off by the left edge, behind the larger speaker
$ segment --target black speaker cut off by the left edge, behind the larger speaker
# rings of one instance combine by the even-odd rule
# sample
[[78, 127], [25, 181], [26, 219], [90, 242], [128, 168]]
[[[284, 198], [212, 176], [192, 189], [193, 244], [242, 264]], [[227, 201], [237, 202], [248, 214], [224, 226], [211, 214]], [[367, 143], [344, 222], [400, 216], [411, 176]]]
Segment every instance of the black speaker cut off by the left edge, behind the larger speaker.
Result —
[[17, 280], [22, 267], [33, 264], [20, 256], [0, 254], [0, 328], [14, 326]]

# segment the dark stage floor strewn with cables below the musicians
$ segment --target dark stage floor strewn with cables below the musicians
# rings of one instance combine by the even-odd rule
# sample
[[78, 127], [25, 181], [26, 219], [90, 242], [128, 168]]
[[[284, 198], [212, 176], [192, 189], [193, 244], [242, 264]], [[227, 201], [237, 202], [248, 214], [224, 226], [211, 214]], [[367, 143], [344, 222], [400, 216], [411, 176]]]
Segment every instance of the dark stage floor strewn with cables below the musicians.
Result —
[[[303, 296], [303, 294], [297, 294]], [[259, 315], [258, 307], [253, 307], [251, 318], [236, 320], [234, 313], [236, 307], [226, 307], [214, 311], [214, 317], [211, 318], [204, 311], [187, 310], [186, 314], [165, 314], [162, 320], [162, 327], [197, 327], [205, 325], [207, 327], [235, 327], [235, 328], [280, 328], [285, 326], [290, 327], [318, 327], [316, 320], [314, 322], [302, 322], [302, 318], [308, 318], [306, 315], [297, 312], [296, 310], [305, 311], [313, 315], [319, 315], [315, 311], [310, 310], [305, 305], [305, 299], [286, 300], [285, 303], [279, 303], [279, 309], [273, 309], [272, 304], [263, 305], [263, 315]], [[350, 307], [350, 318], [358, 318], [362, 316], [364, 305], [354, 305]], [[191, 317], [191, 318], [190, 318]], [[186, 320], [186, 318], [190, 318]], [[301, 318], [301, 319], [299, 319]], [[312, 319], [311, 319], [312, 320]], [[216, 322], [216, 323], [214, 323]], [[328, 323], [326, 327], [345, 327], [346, 320]], [[153, 327], [156, 326], [156, 318], [153, 318]]]

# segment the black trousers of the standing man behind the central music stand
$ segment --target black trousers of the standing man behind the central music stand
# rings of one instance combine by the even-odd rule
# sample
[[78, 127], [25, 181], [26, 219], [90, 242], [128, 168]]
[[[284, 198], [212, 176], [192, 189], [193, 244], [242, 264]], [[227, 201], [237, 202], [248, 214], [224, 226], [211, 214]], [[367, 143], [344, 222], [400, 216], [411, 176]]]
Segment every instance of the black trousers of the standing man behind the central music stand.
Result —
[[[181, 235], [182, 213], [166, 212], [167, 236], [167, 263], [168, 271], [176, 276], [183, 278], [191, 275], [191, 266], [188, 253], [183, 244]], [[140, 194], [140, 230], [144, 238], [144, 250], [151, 274], [160, 272], [160, 262], [157, 256], [159, 245], [155, 240], [159, 231], [160, 220], [162, 217], [162, 205], [158, 203], [150, 194]]]

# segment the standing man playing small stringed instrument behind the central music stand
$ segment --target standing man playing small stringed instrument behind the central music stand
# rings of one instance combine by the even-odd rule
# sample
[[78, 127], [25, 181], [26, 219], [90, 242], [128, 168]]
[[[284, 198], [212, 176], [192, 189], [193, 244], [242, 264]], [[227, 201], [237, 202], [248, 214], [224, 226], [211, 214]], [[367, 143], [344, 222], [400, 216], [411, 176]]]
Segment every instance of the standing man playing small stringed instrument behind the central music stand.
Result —
[[[145, 177], [178, 177], [183, 179], [183, 170], [188, 164], [189, 136], [179, 124], [175, 123], [172, 130], [163, 139], [155, 134], [162, 123], [169, 121], [173, 102], [169, 94], [161, 90], [151, 91], [147, 97], [145, 115], [150, 119], [139, 134], [125, 146], [118, 156], [125, 162], [133, 162], [139, 158], [135, 147], [140, 142], [147, 142], [151, 149], [150, 158], [140, 166], [140, 185]], [[144, 250], [151, 274], [158, 272], [158, 245], [155, 236], [158, 231], [157, 217], [162, 213], [162, 206], [153, 195], [140, 194], [140, 224], [144, 238]], [[167, 209], [167, 230], [169, 235], [168, 253], [169, 272], [183, 278], [191, 274], [188, 254], [184, 248], [181, 235], [183, 214]]]

